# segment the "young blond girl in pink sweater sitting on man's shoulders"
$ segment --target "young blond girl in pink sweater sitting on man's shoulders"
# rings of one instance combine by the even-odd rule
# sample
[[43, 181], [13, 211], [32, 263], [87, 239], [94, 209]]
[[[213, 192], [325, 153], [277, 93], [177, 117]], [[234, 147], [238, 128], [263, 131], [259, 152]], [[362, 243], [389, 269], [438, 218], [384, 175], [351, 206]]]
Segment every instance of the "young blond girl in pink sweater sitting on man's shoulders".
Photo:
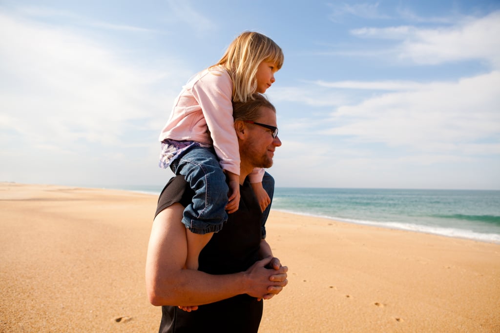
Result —
[[[187, 269], [198, 268], [201, 249], [222, 229], [227, 213], [238, 209], [239, 151], [232, 101], [245, 102], [255, 92], [264, 93], [282, 64], [283, 52], [274, 41], [245, 31], [216, 64], [190, 79], [174, 101], [159, 136], [159, 166], [183, 175], [195, 192], [182, 217]], [[250, 175], [262, 211], [270, 203], [263, 174], [263, 169], [256, 169]]]

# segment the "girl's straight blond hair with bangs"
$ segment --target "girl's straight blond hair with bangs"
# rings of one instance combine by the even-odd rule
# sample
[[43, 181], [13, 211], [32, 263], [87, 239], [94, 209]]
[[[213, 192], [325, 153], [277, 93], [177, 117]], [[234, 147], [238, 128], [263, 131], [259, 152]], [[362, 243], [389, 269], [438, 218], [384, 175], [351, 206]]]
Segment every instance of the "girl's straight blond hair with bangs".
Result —
[[269, 37], [244, 31], [227, 47], [220, 60], [210, 66], [223, 66], [232, 79], [232, 100], [246, 102], [257, 90], [256, 73], [262, 61], [273, 62], [276, 70], [283, 65], [283, 51]]

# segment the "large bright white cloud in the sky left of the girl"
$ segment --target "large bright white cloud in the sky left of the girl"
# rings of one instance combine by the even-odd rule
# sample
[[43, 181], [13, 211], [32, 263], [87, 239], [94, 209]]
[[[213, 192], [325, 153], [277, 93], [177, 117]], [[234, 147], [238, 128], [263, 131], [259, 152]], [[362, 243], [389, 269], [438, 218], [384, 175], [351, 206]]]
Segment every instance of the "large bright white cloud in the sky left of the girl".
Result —
[[[180, 86], [180, 68], [166, 72], [134, 66], [118, 50], [70, 30], [56, 29], [0, 13], [0, 126], [42, 145], [68, 146], [85, 140], [119, 144], [141, 121], [162, 116], [170, 96], [155, 85], [171, 79]], [[166, 99], [166, 101], [165, 101]]]

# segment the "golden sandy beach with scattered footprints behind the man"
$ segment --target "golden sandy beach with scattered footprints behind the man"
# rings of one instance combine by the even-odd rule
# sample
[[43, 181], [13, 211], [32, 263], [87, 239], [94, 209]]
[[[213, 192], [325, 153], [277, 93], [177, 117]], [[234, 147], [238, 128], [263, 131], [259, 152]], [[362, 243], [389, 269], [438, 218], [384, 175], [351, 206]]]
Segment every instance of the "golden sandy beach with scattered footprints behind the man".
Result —
[[[0, 183], [0, 332], [157, 332], [156, 196]], [[500, 245], [271, 210], [288, 286], [260, 331], [500, 332]]]

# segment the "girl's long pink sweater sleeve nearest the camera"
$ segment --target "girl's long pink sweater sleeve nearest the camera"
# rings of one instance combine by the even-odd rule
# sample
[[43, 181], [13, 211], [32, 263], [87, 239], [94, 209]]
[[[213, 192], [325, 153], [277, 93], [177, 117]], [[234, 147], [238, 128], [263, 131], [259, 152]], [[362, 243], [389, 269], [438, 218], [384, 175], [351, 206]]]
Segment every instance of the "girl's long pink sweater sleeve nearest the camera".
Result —
[[205, 118], [220, 167], [239, 175], [239, 148], [232, 118], [232, 80], [227, 71], [209, 70], [192, 87]]

